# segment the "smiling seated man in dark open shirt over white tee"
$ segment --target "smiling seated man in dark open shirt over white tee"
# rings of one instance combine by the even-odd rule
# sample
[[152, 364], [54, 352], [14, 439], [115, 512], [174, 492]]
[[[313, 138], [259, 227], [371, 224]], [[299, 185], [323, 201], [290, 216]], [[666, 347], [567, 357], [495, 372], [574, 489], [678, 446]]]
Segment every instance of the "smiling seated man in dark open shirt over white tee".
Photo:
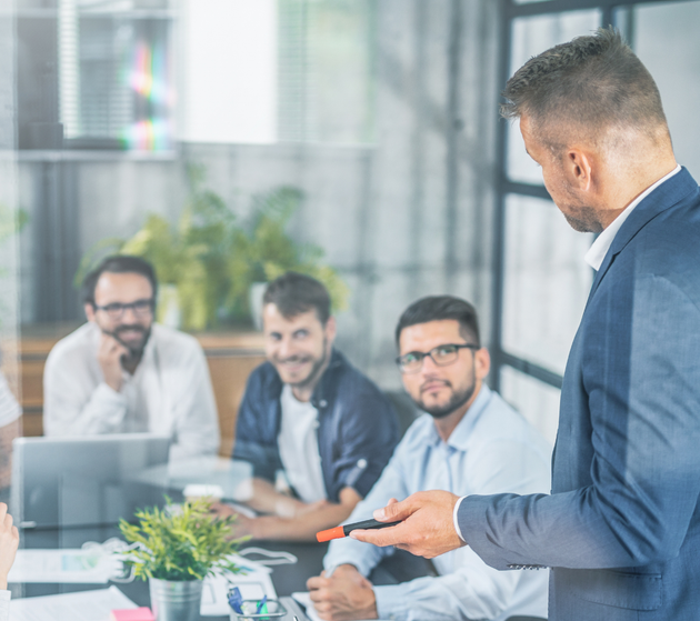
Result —
[[248, 380], [233, 458], [253, 465], [249, 504], [266, 515], [239, 514], [238, 530], [314, 541], [348, 518], [381, 474], [398, 442], [397, 415], [333, 348], [336, 319], [319, 281], [288, 272], [271, 282], [262, 323], [268, 362]]

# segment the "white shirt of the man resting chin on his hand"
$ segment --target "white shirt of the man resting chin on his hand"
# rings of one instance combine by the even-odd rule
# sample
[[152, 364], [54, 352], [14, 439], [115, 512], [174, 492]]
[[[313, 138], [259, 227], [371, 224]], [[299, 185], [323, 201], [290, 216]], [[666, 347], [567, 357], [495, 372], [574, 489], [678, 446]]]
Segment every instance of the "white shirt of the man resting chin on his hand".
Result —
[[141, 362], [118, 392], [98, 361], [101, 331], [88, 322], [60, 340], [43, 374], [47, 435], [150, 431], [170, 435], [170, 459], [214, 454], [219, 420], [209, 368], [197, 340], [153, 324]]

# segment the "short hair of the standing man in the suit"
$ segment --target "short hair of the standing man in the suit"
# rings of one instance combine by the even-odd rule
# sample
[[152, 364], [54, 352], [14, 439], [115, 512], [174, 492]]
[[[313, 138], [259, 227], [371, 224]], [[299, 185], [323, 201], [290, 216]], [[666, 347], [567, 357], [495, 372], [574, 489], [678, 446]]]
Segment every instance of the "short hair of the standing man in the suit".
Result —
[[531, 58], [502, 94], [503, 117], [526, 114], [538, 128], [563, 121], [594, 134], [613, 126], [653, 131], [667, 124], [653, 78], [613, 28]]

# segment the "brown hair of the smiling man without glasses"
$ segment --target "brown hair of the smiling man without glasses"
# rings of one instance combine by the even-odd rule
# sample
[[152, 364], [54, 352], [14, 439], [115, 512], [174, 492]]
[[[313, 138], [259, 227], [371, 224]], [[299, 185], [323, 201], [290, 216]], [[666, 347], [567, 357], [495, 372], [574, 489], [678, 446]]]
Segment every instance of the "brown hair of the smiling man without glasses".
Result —
[[310, 276], [287, 272], [266, 289], [263, 304], [274, 304], [286, 319], [316, 310], [321, 324], [330, 317], [330, 296], [323, 284]]

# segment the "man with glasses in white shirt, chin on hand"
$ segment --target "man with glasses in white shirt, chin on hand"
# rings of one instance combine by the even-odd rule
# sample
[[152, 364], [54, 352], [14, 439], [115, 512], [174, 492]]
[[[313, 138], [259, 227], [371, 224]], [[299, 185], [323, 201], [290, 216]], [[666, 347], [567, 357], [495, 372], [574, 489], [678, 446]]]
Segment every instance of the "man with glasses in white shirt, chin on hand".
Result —
[[170, 459], [216, 454], [209, 369], [193, 337], [153, 323], [158, 282], [138, 257], [108, 257], [82, 286], [88, 322], [51, 350], [43, 374], [47, 435], [171, 435]]

